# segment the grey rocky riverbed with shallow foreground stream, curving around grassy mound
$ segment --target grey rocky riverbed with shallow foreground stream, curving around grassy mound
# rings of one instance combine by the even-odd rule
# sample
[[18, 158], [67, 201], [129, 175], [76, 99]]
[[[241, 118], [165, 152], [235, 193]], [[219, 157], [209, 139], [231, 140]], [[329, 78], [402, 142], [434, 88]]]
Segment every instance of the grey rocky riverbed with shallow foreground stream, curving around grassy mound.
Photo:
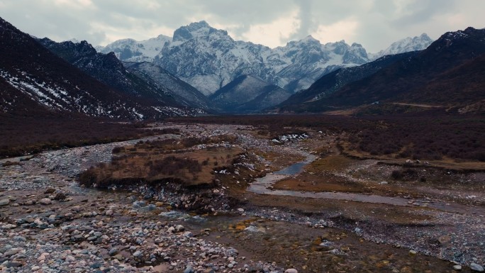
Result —
[[[271, 145], [244, 126], [167, 126], [180, 128], [182, 135], [160, 138], [232, 133], [249, 150], [284, 151], [296, 158], [306, 149], [297, 142]], [[221, 188], [212, 189], [221, 202], [211, 213], [194, 214], [174, 211], [194, 196], [78, 186], [80, 172], [110, 162], [113, 147], [137, 141], [43, 152], [1, 167], [1, 272], [483, 271], [481, 208], [470, 215], [425, 208], [417, 213], [429, 217], [418, 224], [373, 226], [371, 216], [345, 221], [347, 211], [360, 206], [357, 201], [341, 201], [340, 212], [308, 214], [301, 211], [314, 199], [268, 201], [273, 197], [265, 195], [228, 206], [228, 189]], [[277, 167], [264, 158], [260, 163]], [[303, 202], [303, 208], [294, 210], [288, 202], [294, 207]]]

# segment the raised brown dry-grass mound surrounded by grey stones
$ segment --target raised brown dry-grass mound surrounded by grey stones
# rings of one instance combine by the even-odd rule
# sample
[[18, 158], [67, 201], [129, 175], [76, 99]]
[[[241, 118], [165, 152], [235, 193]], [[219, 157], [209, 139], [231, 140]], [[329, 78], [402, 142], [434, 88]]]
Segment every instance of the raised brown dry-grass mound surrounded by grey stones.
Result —
[[111, 164], [88, 169], [79, 179], [82, 184], [89, 186], [140, 181], [172, 181], [185, 186], [211, 185], [214, 182], [214, 169], [232, 165], [244, 151], [232, 146], [209, 146], [200, 150], [186, 148], [194, 144], [217, 143], [221, 139], [229, 138], [191, 138], [116, 147], [113, 151], [116, 157], [113, 157]]

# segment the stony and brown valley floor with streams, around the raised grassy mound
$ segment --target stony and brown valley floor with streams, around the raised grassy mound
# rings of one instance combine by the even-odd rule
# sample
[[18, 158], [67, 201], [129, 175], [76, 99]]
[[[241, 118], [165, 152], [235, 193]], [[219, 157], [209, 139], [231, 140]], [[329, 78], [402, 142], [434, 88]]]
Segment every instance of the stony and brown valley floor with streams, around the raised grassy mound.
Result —
[[[4, 164], [1, 272], [472, 272], [485, 264], [484, 171], [355, 159], [338, 148], [340, 135], [310, 129], [272, 141], [252, 126], [153, 128], [181, 134], [143, 141], [235, 135], [244, 158], [216, 174], [215, 188], [179, 192], [79, 186], [81, 172], [138, 140]], [[211, 209], [191, 210], [207, 191], [217, 200]]]

